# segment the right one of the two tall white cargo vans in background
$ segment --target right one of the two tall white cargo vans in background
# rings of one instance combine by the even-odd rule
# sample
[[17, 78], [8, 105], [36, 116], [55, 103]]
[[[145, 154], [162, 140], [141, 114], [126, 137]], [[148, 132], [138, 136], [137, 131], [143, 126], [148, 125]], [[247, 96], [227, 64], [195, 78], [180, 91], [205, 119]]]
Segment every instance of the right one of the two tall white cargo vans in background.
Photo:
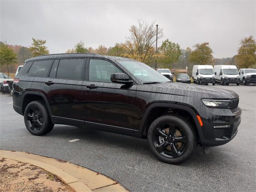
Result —
[[240, 78], [235, 65], [215, 65], [214, 72], [216, 72], [216, 82], [220, 82], [222, 85], [230, 83], [239, 85]]

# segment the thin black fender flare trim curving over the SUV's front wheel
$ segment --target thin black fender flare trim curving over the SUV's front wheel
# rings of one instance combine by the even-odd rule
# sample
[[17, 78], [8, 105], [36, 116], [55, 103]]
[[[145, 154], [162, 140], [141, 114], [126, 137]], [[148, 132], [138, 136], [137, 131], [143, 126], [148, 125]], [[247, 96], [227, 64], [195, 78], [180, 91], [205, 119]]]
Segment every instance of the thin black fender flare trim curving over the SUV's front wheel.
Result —
[[148, 118], [148, 114], [150, 113], [150, 111], [153, 109], [153, 108], [156, 108], [156, 107], [164, 107], [164, 108], [174, 108], [174, 109], [181, 109], [181, 110], [184, 110], [186, 112], [188, 112], [195, 124], [196, 124], [196, 128], [197, 128], [197, 131], [198, 131], [198, 135], [200, 136], [203, 132], [202, 132], [202, 127], [200, 126], [200, 123], [198, 122], [198, 119], [197, 119], [197, 116], [196, 115], [199, 115], [198, 112], [196, 111], [196, 109], [194, 109], [192, 106], [188, 106], [188, 104], [186, 104], [187, 106], [185, 106], [184, 104], [170, 104], [170, 103], [154, 103], [154, 104], [151, 104], [145, 111], [143, 117], [142, 117], [142, 120], [140, 122], [140, 126], [139, 126], [139, 130], [134, 130], [134, 133], [136, 134], [141, 134], [142, 136], [144, 136], [144, 131], [145, 131], [145, 127], [144, 127], [144, 124], [146, 122], [146, 119]]

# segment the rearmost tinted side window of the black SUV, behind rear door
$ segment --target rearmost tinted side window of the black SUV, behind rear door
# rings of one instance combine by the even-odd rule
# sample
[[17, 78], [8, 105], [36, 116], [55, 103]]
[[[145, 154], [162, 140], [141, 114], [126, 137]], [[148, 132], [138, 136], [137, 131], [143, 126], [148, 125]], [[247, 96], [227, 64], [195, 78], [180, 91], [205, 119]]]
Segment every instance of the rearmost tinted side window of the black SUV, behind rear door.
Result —
[[47, 77], [51, 65], [52, 60], [35, 61], [29, 69], [28, 75], [36, 77]]

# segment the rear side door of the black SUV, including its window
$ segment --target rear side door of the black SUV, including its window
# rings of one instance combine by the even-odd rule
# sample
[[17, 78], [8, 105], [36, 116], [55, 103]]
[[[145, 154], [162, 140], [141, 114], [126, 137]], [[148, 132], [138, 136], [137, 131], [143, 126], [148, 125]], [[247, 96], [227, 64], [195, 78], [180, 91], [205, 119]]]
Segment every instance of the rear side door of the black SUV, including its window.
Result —
[[48, 100], [52, 120], [84, 124], [84, 58], [56, 59], [41, 89]]

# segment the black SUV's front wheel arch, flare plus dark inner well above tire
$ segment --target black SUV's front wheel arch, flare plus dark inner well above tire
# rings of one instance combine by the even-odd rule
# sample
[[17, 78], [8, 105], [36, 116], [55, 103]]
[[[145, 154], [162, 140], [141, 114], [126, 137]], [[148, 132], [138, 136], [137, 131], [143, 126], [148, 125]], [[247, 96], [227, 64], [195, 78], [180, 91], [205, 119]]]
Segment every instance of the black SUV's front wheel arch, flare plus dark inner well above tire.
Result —
[[146, 138], [150, 124], [154, 121], [154, 119], [156, 119], [156, 118], [153, 118], [150, 120], [150, 117], [151, 117], [150, 114], [152, 114], [152, 112], [158, 108], [162, 109], [163, 113], [162, 114], [158, 113], [158, 116], [156, 118], [158, 118], [159, 116], [168, 114], [169, 110], [186, 112], [187, 114], [189, 114], [189, 116], [191, 117], [191, 120], [193, 121], [192, 125], [194, 126], [194, 129], [198, 134], [198, 137], [202, 134], [202, 127], [200, 126], [200, 123], [198, 122], [198, 119], [196, 116], [198, 115], [198, 112], [192, 106], [185, 106], [182, 104], [156, 103], [156, 104], [151, 104], [146, 109], [146, 112], [144, 113], [144, 116], [142, 117], [142, 120], [140, 122], [139, 130], [136, 131], [138, 132], [138, 134], [142, 135], [142, 138]]

